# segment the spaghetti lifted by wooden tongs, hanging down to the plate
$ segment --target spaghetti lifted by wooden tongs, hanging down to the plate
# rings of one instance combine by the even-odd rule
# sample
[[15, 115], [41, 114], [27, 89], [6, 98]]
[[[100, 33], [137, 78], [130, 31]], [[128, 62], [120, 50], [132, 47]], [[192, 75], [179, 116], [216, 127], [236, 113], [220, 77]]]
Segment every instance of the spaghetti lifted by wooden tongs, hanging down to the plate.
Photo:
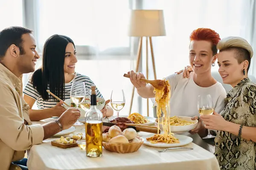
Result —
[[179, 140], [174, 137], [174, 133], [171, 133], [170, 123], [168, 122], [170, 117], [170, 84], [169, 81], [165, 79], [163, 79], [163, 82], [164, 85], [162, 89], [154, 88], [155, 100], [157, 103], [157, 129], [160, 130], [159, 122], [163, 111], [163, 119], [161, 122], [163, 124], [163, 133], [155, 134], [154, 136], [147, 138], [147, 140], [151, 143], [179, 143]]

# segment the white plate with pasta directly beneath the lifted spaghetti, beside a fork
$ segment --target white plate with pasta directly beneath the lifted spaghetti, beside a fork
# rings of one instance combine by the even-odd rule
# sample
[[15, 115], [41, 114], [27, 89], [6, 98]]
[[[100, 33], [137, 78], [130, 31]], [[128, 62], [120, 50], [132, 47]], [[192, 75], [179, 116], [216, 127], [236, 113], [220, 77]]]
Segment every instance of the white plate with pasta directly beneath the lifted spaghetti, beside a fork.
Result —
[[[159, 134], [159, 135], [164, 136], [164, 134]], [[156, 137], [154, 138], [154, 136], [156, 136]], [[189, 136], [177, 135], [177, 134], [175, 134], [175, 136], [173, 136], [172, 141], [169, 140], [169, 142], [171, 142], [171, 143], [157, 142], [157, 138], [159, 141], [161, 141], [159, 136], [157, 136], [157, 134], [143, 136], [143, 138], [144, 138], [143, 144], [152, 146], [152, 147], [180, 147], [180, 146], [184, 146], [186, 144], [190, 144], [193, 141], [193, 139]], [[153, 139], [153, 141], [150, 141], [150, 139]]]

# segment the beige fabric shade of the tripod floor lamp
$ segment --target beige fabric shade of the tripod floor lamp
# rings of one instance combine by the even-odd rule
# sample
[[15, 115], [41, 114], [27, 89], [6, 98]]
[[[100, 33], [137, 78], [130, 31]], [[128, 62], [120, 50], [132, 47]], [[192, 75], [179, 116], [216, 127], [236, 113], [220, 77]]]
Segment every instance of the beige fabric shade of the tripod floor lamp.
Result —
[[130, 18], [130, 37], [165, 36], [163, 10], [132, 10]]

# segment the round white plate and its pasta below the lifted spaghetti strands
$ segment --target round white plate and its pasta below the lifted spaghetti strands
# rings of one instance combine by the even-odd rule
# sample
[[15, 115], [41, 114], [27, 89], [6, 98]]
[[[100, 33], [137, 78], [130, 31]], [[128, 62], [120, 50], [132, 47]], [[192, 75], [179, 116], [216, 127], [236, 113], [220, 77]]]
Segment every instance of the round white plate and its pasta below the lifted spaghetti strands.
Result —
[[168, 134], [167, 138], [164, 133], [143, 136], [144, 144], [152, 147], [180, 147], [190, 144], [193, 139], [189, 136]]

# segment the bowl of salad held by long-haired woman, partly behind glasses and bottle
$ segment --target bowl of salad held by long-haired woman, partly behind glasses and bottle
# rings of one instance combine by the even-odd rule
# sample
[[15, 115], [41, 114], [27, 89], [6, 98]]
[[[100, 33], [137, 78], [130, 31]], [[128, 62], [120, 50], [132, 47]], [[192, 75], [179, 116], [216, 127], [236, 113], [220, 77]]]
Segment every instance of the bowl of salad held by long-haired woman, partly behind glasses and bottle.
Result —
[[[97, 100], [97, 106], [96, 106], [96, 108], [101, 111], [101, 110], [104, 108], [106, 101], [105, 101], [105, 99], [100, 98], [100, 97], [96, 97], [96, 100]], [[69, 106], [63, 105], [63, 107], [64, 107], [65, 109], [76, 108], [76, 104], [74, 104], [71, 99], [67, 99], [67, 100], [65, 100], [64, 102], [67, 103], [67, 105], [69, 105]], [[90, 108], [90, 99], [89, 99], [89, 98], [86, 98], [86, 99], [85, 99], [85, 102], [82, 102], [82, 103], [79, 105], [79, 107], [78, 107], [78, 109], [79, 109], [79, 111], [80, 111], [80, 113], [81, 113], [81, 116], [79, 117], [78, 121], [84, 123], [85, 111], [81, 108], [81, 105], [83, 105], [82, 107], [85, 107], [84, 109], [89, 109], [89, 108]]]

